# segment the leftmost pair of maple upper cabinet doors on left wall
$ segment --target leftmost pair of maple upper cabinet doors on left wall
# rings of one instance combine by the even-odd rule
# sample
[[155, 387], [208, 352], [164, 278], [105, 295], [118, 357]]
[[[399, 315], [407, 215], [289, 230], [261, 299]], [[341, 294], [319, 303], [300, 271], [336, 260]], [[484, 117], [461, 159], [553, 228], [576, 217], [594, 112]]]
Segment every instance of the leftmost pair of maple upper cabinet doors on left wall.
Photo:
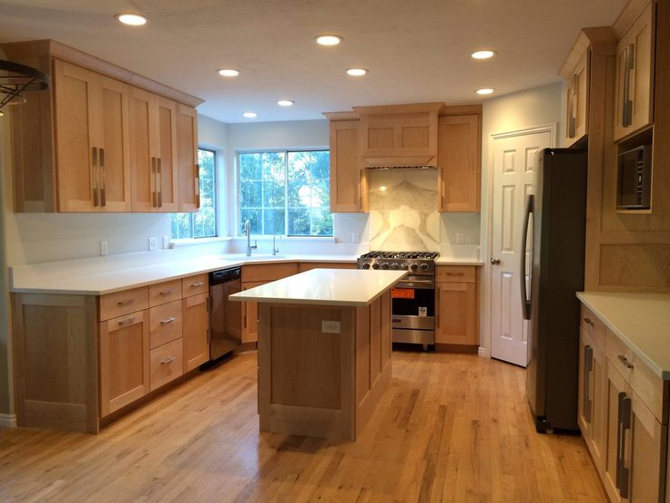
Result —
[[130, 210], [127, 86], [54, 61], [57, 207]]

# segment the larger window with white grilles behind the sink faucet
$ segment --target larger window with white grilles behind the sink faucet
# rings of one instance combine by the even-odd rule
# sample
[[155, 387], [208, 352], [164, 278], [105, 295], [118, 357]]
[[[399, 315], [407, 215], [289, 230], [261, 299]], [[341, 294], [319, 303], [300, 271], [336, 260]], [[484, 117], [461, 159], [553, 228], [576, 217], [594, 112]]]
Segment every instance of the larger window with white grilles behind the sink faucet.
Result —
[[240, 232], [332, 236], [328, 150], [238, 154]]

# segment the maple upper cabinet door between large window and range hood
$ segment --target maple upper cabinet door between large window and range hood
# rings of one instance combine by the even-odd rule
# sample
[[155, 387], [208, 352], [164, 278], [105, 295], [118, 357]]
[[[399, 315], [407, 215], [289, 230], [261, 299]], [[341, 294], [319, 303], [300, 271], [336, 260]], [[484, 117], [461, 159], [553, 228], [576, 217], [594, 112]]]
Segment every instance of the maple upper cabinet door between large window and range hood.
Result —
[[360, 120], [330, 122], [330, 210], [367, 211], [367, 190], [361, 172]]

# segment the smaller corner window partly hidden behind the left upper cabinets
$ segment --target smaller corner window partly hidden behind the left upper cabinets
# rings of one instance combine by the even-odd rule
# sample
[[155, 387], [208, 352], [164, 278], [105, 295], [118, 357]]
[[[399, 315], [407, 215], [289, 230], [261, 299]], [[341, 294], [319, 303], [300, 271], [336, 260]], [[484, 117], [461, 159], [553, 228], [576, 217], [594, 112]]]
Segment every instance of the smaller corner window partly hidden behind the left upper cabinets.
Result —
[[217, 162], [211, 150], [198, 149], [200, 210], [172, 213], [172, 238], [211, 238], [217, 235]]

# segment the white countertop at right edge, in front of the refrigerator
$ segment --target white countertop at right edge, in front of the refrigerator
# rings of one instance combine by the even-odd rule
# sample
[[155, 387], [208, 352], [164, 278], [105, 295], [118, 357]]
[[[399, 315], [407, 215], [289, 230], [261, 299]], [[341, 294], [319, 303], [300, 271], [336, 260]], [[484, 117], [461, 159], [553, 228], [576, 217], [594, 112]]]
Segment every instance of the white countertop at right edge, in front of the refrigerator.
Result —
[[663, 379], [670, 379], [670, 295], [578, 292], [577, 297]]

